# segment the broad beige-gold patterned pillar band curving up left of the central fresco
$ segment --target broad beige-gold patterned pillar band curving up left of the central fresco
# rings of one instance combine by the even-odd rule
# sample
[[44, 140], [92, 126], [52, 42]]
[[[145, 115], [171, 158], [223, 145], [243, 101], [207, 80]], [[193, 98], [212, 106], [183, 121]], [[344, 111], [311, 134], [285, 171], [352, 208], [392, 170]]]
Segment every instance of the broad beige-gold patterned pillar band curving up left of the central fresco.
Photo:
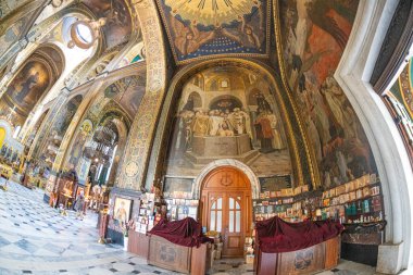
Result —
[[139, 1], [135, 10], [147, 48], [147, 90], [132, 125], [117, 187], [139, 190], [145, 180], [165, 93], [166, 59], [162, 24], [154, 1]]

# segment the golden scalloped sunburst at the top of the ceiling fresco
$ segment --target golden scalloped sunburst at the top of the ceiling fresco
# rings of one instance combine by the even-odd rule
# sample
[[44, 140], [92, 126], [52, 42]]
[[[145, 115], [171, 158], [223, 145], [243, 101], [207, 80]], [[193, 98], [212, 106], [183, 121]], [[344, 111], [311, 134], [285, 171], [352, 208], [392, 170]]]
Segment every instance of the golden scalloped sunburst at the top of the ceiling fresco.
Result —
[[240, 21], [245, 14], [259, 7], [255, 0], [165, 0], [173, 15], [189, 20], [192, 24], [221, 26], [233, 21]]

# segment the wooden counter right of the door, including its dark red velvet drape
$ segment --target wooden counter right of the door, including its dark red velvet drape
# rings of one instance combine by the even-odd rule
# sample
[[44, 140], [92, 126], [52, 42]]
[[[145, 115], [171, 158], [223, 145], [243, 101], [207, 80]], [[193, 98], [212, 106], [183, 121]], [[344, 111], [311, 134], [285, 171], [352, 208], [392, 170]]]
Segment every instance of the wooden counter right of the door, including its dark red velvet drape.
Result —
[[333, 268], [340, 258], [342, 229], [331, 221], [258, 222], [254, 270], [258, 275], [296, 275]]

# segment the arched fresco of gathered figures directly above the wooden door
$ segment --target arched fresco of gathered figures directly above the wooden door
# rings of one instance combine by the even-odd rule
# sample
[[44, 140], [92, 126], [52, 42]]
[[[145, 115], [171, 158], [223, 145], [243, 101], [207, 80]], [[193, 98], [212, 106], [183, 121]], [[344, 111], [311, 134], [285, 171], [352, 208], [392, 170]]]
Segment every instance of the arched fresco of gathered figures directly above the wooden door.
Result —
[[241, 161], [258, 176], [291, 173], [278, 105], [261, 75], [208, 68], [186, 83], [177, 104], [167, 177], [195, 178], [220, 159]]

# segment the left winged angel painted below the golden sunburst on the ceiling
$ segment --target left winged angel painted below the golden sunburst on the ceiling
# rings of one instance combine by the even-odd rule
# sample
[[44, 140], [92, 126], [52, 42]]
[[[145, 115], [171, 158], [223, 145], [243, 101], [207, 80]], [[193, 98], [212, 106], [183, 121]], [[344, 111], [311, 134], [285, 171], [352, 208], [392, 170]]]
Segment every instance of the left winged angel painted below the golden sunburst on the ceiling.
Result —
[[202, 45], [215, 38], [215, 30], [201, 32], [197, 28], [197, 21], [185, 26], [175, 16], [170, 16], [171, 26], [175, 34], [175, 47], [183, 55], [196, 52]]

